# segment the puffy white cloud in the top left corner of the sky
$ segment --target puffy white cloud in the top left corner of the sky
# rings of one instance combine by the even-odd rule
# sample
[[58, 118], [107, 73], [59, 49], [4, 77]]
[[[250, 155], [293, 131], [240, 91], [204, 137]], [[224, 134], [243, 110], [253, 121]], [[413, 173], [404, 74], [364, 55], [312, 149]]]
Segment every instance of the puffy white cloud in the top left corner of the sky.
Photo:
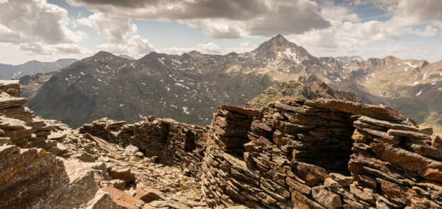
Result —
[[0, 42], [34, 54], [78, 54], [84, 33], [69, 28], [68, 11], [46, 0], [0, 0]]

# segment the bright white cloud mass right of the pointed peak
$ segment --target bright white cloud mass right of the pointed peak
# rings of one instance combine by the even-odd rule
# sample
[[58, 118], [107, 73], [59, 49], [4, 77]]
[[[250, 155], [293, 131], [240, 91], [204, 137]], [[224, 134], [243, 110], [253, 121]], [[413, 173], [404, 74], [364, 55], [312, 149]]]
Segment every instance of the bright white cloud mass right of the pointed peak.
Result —
[[[367, 3], [368, 1], [352, 1], [350, 5]], [[395, 0], [370, 1], [370, 3], [385, 10], [390, 17], [385, 21], [363, 22], [360, 18], [352, 17], [354, 13], [348, 6], [327, 5], [323, 6], [321, 14], [331, 22], [329, 28], [314, 29], [287, 38], [305, 46], [317, 56], [338, 56], [368, 54], [368, 47], [377, 42], [395, 41], [409, 33], [418, 36], [436, 36], [439, 31], [437, 26], [442, 20], [440, 16], [442, 1]], [[384, 49], [382, 45], [377, 47]]]

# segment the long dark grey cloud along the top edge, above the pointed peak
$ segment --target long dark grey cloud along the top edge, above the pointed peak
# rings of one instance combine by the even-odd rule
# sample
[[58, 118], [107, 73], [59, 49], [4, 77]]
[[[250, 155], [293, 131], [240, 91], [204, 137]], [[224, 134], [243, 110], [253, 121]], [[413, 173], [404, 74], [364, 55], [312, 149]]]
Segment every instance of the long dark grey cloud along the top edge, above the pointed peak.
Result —
[[68, 3], [130, 18], [176, 20], [213, 38], [303, 33], [330, 26], [319, 15], [317, 3], [309, 0], [68, 0]]

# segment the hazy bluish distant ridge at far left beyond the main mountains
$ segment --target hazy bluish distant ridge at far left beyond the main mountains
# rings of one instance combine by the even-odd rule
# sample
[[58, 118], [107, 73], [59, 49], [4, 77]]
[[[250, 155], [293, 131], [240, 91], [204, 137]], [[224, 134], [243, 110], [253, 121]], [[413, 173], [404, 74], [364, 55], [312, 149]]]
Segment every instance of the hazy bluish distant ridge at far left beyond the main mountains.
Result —
[[74, 63], [77, 59], [59, 59], [54, 62], [29, 61], [21, 65], [6, 65], [0, 63], [0, 79], [19, 78], [25, 75], [47, 73]]

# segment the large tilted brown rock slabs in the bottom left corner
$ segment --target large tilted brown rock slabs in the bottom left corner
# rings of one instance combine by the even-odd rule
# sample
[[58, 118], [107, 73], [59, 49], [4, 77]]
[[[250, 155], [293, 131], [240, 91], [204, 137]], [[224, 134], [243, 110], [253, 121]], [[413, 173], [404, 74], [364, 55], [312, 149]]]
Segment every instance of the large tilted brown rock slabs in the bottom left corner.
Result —
[[7, 159], [0, 162], [0, 208], [115, 208], [98, 187], [104, 164], [69, 162], [14, 145], [0, 146], [0, 157]]

